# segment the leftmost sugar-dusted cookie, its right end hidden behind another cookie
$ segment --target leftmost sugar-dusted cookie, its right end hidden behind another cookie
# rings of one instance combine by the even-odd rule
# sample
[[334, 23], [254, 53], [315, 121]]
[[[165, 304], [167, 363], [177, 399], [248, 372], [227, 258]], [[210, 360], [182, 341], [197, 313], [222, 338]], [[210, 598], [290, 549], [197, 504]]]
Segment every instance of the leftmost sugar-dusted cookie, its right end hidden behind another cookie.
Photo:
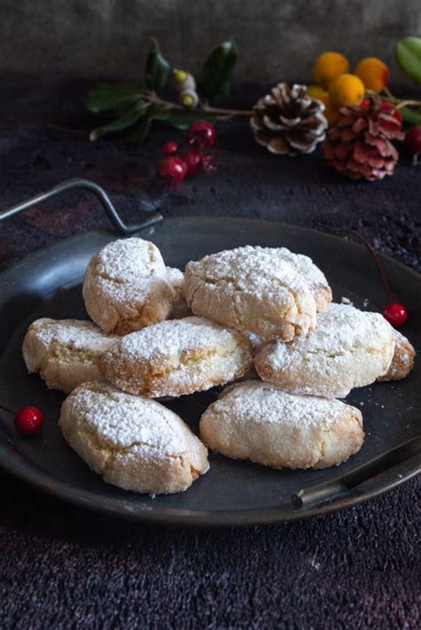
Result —
[[51, 390], [68, 392], [81, 382], [101, 380], [99, 357], [119, 338], [105, 335], [91, 321], [36, 319], [22, 353], [29, 373], [39, 372]]

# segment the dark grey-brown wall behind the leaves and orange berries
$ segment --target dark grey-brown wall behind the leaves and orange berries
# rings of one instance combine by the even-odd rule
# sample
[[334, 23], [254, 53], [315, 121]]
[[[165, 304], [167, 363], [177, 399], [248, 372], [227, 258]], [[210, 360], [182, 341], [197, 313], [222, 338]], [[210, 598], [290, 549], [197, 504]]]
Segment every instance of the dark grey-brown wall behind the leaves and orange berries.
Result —
[[338, 50], [352, 67], [385, 59], [396, 82], [396, 42], [421, 33], [419, 0], [2, 0], [0, 18], [0, 72], [96, 76], [139, 75], [155, 35], [192, 72], [233, 37], [239, 81], [308, 80], [315, 57]]

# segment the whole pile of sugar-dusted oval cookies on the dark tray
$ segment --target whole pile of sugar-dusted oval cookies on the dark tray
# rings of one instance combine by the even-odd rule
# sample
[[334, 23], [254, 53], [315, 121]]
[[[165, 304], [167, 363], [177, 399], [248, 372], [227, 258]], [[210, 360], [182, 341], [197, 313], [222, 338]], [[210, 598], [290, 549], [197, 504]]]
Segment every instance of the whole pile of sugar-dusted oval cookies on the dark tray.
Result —
[[[409, 374], [415, 350], [378, 313], [331, 303], [307, 256], [242, 247], [183, 274], [147, 240], [115, 240], [91, 258], [92, 321], [38, 319], [28, 372], [69, 393], [59, 426], [104, 480], [137, 492], [186, 490], [208, 450], [275, 469], [338, 465], [362, 445], [354, 387]], [[226, 385], [200, 439], [160, 399]]]

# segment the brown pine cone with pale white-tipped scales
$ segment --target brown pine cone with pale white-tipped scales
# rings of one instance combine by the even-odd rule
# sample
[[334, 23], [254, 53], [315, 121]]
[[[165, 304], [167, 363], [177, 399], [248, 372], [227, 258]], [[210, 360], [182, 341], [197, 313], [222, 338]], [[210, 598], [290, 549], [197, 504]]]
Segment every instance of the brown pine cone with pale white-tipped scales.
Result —
[[273, 154], [311, 154], [326, 136], [324, 105], [305, 85], [278, 83], [253, 107], [250, 125], [259, 145]]

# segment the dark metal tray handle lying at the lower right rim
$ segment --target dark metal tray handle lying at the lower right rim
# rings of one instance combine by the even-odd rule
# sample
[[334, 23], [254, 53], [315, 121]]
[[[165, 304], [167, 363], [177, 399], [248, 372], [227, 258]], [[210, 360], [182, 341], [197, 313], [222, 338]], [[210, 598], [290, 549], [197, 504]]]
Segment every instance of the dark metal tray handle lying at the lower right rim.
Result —
[[385, 487], [396, 484], [397, 478], [408, 479], [421, 471], [421, 436], [414, 437], [392, 451], [324, 484], [304, 488], [291, 496], [296, 509], [311, 509], [325, 502], [340, 504], [352, 496], [367, 496], [373, 491], [379, 476]]

